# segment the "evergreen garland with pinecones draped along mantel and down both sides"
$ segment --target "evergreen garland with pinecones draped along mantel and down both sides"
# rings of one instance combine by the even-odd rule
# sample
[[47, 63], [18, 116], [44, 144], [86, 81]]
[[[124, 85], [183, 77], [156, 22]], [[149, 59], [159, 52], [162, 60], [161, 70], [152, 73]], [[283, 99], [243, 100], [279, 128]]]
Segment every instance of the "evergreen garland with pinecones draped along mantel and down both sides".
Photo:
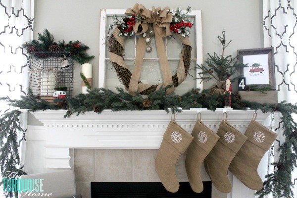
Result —
[[[179, 96], [174, 93], [167, 95], [167, 88], [161, 88], [149, 94], [147, 98], [143, 98], [138, 93], [132, 96], [122, 88], [117, 88], [117, 93], [103, 88], [94, 89], [88, 91], [87, 94], [79, 94], [74, 98], [66, 99], [66, 105], [59, 105], [64, 102], [63, 99], [55, 99], [54, 102], [50, 103], [38, 99], [32, 93], [28, 98], [21, 97], [19, 100], [9, 99], [9, 97], [3, 97], [0, 100], [8, 101], [11, 106], [29, 109], [29, 112], [46, 109], [68, 109], [64, 115], [65, 118], [73, 114], [78, 116], [87, 111], [101, 113], [104, 109], [113, 111], [165, 109], [166, 112], [169, 112], [168, 108], [171, 108], [172, 112], [179, 112], [181, 110], [177, 107], [183, 109], [204, 107], [215, 110], [217, 107], [224, 106], [224, 95], [209, 95], [209, 90], [192, 89], [190, 92]], [[280, 152], [279, 162], [271, 164], [276, 170], [265, 176], [264, 187], [256, 192], [256, 195], [259, 198], [264, 198], [272, 193], [274, 198], [294, 198], [292, 171], [297, 167], [297, 123], [292, 118], [292, 113], [297, 114], [297, 105], [285, 101], [276, 104], [261, 104], [240, 100], [239, 98], [238, 96], [232, 97], [232, 107], [234, 109], [246, 110], [247, 107], [250, 107], [251, 109], [260, 109], [264, 113], [279, 112], [282, 114], [282, 129], [286, 139], [277, 150]], [[16, 167], [20, 163], [16, 142], [16, 130], [19, 127], [17, 116], [19, 114], [18, 110], [14, 110], [4, 113], [0, 117], [0, 168], [3, 177], [5, 171], [17, 172]], [[7, 138], [6, 143], [4, 143], [5, 138]], [[24, 172], [19, 173], [24, 174]], [[11, 197], [12, 194], [9, 196]]]

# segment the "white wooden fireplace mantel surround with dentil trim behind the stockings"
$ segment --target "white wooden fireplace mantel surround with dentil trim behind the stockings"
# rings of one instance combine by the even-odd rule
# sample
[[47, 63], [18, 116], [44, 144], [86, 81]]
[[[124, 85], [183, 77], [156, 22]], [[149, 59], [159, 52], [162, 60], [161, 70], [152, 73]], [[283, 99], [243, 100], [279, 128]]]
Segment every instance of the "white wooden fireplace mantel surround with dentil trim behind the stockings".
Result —
[[[176, 113], [175, 121], [191, 133], [200, 111], [201, 121], [216, 132], [225, 110], [182, 110]], [[254, 112], [227, 109], [227, 121], [244, 133]], [[260, 110], [256, 113], [256, 121], [266, 127], [271, 126], [271, 113]], [[44, 124], [38, 130], [44, 130], [46, 135], [45, 168], [49, 169], [71, 169], [74, 163], [73, 148], [158, 149], [172, 115], [165, 110], [104, 110], [100, 114], [86, 112], [70, 118], [63, 118], [66, 110], [45, 110], [32, 114]], [[258, 167], [261, 178], [267, 174], [267, 162], [268, 152]], [[236, 177], [230, 177], [233, 190], [228, 198], [240, 198], [243, 192], [245, 198], [254, 198], [255, 191], [245, 187]]]

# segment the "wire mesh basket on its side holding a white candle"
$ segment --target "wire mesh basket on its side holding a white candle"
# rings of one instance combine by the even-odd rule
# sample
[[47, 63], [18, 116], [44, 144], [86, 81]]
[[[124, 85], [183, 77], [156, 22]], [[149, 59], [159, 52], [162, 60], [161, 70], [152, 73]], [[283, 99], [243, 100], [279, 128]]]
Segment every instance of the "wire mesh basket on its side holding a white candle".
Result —
[[29, 75], [34, 95], [52, 101], [54, 88], [67, 87], [66, 97], [72, 97], [73, 60], [70, 52], [31, 52]]

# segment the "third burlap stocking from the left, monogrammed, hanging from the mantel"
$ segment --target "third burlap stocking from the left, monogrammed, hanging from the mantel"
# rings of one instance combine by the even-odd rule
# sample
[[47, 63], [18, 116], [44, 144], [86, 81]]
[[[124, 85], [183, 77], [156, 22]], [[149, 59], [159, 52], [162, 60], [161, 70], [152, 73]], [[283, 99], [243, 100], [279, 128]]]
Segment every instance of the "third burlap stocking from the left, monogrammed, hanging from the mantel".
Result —
[[222, 193], [230, 193], [228, 167], [247, 137], [226, 121], [221, 122], [217, 135], [220, 139], [205, 157], [204, 167], [213, 185]]

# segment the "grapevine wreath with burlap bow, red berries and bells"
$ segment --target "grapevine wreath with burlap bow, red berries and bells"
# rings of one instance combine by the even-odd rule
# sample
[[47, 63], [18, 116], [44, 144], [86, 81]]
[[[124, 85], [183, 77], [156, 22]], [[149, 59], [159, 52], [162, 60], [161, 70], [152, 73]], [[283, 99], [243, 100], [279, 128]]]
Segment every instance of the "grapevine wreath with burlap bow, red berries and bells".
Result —
[[[191, 10], [191, 7], [188, 7], [187, 13]], [[187, 13], [182, 13], [180, 8], [172, 12], [169, 7], [163, 9], [152, 7], [152, 10], [149, 10], [142, 4], [136, 3], [132, 9], [128, 8], [126, 10], [125, 14], [127, 17], [123, 18], [122, 21], [118, 20], [116, 15], [113, 16], [114, 24], [109, 25], [109, 29], [113, 29], [113, 26], [116, 27], [107, 40], [109, 58], [120, 82], [124, 84], [130, 94], [138, 92], [142, 95], [148, 95], [158, 90], [161, 86], [173, 84], [174, 87], [177, 87], [186, 79], [191, 64], [192, 51], [191, 42], [188, 37], [190, 32], [186, 28], [191, 28], [193, 25], [192, 22], [186, 19]], [[153, 27], [153, 31], [150, 29], [151, 26]], [[173, 76], [170, 74], [169, 63], [162, 40], [165, 37], [171, 36], [172, 33], [175, 34], [176, 38], [183, 45], [179, 65]], [[124, 62], [123, 51], [125, 38], [134, 36], [135, 34], [140, 36], [136, 46], [135, 67], [133, 73], [131, 73]], [[148, 85], [139, 80], [146, 43], [150, 41], [149, 36], [153, 35], [156, 41], [163, 78], [163, 82], [158, 85]], [[169, 88], [167, 93], [172, 93], [174, 87]]]

